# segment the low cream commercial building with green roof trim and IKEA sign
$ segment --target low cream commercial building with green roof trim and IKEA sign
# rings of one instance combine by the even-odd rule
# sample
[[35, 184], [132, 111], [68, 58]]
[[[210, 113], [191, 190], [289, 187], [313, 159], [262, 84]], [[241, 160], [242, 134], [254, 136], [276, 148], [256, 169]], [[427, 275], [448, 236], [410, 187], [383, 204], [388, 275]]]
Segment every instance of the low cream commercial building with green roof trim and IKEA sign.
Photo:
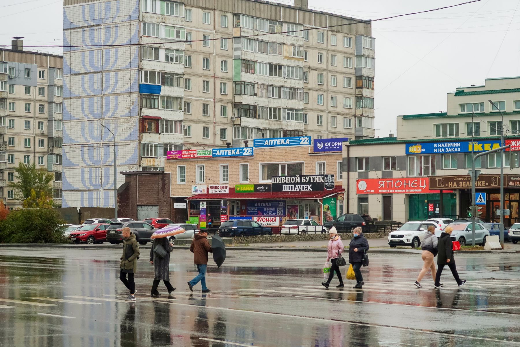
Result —
[[[496, 105], [493, 106], [491, 102]], [[350, 141], [344, 150], [346, 209], [374, 218], [406, 222], [430, 216], [467, 216], [472, 205], [473, 157], [520, 139], [520, 78], [486, 79], [447, 94], [447, 111], [397, 116], [397, 137]], [[513, 156], [518, 167], [518, 156]], [[500, 186], [505, 191], [505, 226], [519, 221], [518, 169], [501, 153], [476, 159], [477, 193], [487, 195], [482, 217], [500, 221]]]

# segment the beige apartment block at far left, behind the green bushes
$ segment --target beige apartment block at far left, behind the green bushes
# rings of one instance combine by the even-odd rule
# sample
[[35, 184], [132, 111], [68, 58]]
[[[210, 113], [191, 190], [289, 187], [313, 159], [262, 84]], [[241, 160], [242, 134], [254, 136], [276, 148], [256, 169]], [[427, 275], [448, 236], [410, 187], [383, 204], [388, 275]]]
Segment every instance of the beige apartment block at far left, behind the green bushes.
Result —
[[0, 49], [0, 197], [21, 206], [15, 191], [19, 162], [54, 174], [53, 198], [62, 199], [62, 57], [23, 49], [23, 37]]

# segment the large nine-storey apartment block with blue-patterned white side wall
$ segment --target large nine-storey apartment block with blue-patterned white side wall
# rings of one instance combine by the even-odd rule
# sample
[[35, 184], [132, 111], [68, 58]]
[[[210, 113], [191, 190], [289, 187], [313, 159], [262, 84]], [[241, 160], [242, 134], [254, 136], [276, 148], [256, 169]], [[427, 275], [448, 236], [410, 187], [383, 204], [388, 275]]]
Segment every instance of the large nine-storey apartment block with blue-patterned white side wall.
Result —
[[113, 206], [101, 123], [118, 172], [255, 138], [374, 136], [369, 22], [305, 0], [64, 0], [63, 28], [64, 206]]

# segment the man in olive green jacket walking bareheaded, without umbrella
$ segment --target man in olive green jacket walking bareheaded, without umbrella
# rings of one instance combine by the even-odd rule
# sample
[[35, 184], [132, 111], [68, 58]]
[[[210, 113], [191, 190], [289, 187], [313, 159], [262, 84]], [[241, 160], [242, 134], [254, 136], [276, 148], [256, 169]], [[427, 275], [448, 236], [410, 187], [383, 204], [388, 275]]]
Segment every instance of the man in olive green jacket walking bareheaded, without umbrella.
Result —
[[[139, 258], [139, 245], [135, 238], [135, 234], [130, 231], [130, 228], [123, 228], [123, 255], [121, 256], [121, 272], [119, 279], [128, 288], [130, 294], [126, 297], [126, 301], [135, 301], [135, 282], [134, 273], [137, 271], [137, 259]], [[126, 279], [128, 275], [128, 279]]]

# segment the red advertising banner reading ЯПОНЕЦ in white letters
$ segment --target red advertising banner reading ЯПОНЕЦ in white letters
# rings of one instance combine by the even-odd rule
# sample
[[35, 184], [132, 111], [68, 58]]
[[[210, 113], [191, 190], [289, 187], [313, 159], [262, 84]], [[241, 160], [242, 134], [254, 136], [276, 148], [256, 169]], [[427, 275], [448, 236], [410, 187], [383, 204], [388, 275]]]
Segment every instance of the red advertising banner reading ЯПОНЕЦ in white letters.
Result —
[[[362, 178], [356, 181], [357, 194], [438, 193], [430, 190], [428, 177]], [[450, 192], [444, 190], [444, 192]]]

